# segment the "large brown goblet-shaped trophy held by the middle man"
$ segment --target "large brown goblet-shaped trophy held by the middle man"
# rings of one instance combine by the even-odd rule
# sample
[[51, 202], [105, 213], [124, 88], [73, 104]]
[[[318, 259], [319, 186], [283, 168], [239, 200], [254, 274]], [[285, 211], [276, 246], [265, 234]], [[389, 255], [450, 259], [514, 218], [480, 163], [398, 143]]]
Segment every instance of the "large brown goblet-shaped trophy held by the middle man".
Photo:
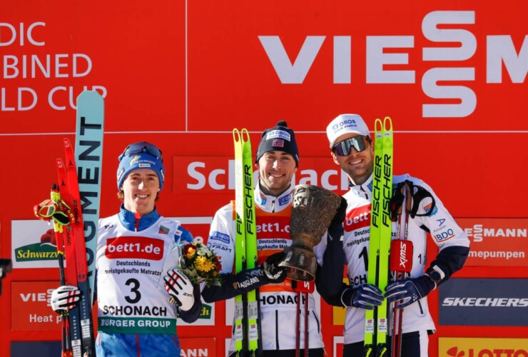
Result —
[[295, 186], [290, 221], [292, 244], [285, 248], [286, 258], [279, 263], [279, 266], [289, 268], [288, 278], [297, 281], [315, 280], [317, 259], [313, 247], [321, 241], [340, 203], [341, 196], [325, 188]]

